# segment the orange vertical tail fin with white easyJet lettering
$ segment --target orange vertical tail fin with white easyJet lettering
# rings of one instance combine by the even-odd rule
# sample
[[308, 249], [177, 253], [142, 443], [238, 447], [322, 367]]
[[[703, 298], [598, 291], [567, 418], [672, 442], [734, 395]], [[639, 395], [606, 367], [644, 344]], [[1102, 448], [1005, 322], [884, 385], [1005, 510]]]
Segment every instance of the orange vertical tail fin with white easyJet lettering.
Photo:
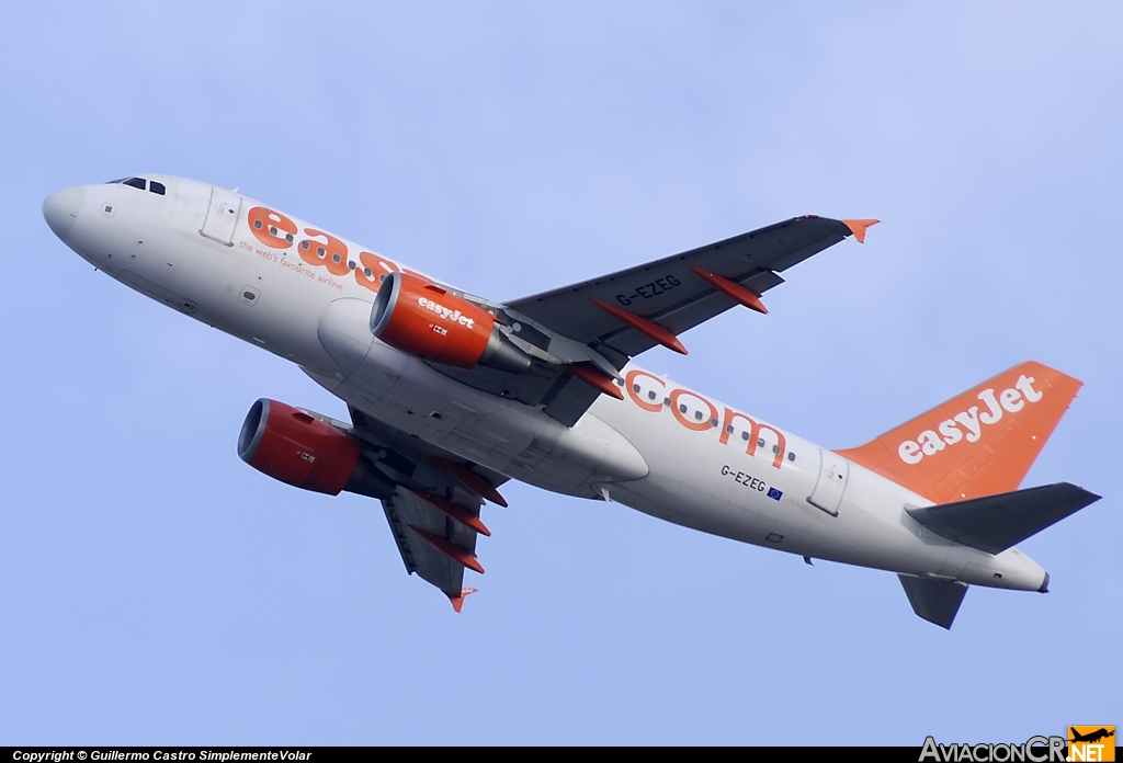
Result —
[[1080, 382], [1032, 360], [838, 451], [938, 504], [1016, 490]]

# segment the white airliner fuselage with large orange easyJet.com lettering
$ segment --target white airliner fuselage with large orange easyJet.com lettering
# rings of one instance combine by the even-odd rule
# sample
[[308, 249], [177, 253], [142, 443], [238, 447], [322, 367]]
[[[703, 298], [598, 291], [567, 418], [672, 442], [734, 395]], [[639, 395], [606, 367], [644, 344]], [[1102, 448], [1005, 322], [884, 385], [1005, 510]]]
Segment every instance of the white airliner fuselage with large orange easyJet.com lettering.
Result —
[[[960, 545], [905, 512], [930, 500], [633, 365], [623, 369], [624, 398], [601, 395], [573, 428], [464, 385], [371, 334], [378, 275], [396, 263], [285, 215], [292, 241], [281, 228], [285, 246], [267, 246], [247, 218], [264, 209], [257, 202], [147, 177], [166, 193], [120, 184], [61, 192], [76, 214], [65, 242], [128, 286], [294, 361], [395, 430], [513, 479], [746, 543], [971, 585], [1042, 587], [1044, 570], [1016, 549], [995, 555]], [[322, 264], [301, 257], [303, 241], [326, 250]]]

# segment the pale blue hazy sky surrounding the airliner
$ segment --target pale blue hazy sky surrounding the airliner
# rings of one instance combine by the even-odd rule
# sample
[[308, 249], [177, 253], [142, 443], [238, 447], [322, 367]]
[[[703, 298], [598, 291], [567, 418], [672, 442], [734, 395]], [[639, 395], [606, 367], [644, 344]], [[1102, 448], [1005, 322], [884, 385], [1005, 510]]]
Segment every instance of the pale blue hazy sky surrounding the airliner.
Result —
[[[24, 3], [0, 33], [0, 744], [1021, 742], [1123, 721], [1123, 9]], [[895, 576], [511, 485], [460, 616], [377, 504], [235, 453], [299, 369], [93, 269], [52, 191], [162, 172], [492, 298], [876, 217], [641, 361], [831, 448], [1024, 359], [1048, 596], [950, 633]]]

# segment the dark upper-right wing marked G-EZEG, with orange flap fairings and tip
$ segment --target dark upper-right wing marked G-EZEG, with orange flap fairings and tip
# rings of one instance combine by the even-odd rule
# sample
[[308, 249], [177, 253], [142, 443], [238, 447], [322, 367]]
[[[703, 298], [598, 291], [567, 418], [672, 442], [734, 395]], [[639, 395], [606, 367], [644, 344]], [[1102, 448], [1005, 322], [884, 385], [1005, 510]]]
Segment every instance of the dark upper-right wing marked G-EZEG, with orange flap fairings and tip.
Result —
[[435, 365], [458, 382], [541, 407], [573, 426], [612, 386], [628, 360], [737, 304], [767, 312], [759, 295], [784, 283], [780, 272], [848, 236], [865, 239], [876, 220], [806, 215], [699, 249], [551, 292], [490, 305], [510, 338], [530, 352], [530, 369]]

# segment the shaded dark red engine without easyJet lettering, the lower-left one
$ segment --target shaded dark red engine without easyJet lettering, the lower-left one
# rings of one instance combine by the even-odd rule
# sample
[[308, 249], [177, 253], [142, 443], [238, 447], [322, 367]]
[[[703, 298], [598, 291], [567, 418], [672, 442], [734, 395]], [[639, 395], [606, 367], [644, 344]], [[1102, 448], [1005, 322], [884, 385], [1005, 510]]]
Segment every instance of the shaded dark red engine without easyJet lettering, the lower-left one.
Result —
[[389, 498], [394, 484], [362, 458], [359, 441], [303, 411], [262, 398], [238, 436], [243, 461], [273, 479], [316, 493]]

